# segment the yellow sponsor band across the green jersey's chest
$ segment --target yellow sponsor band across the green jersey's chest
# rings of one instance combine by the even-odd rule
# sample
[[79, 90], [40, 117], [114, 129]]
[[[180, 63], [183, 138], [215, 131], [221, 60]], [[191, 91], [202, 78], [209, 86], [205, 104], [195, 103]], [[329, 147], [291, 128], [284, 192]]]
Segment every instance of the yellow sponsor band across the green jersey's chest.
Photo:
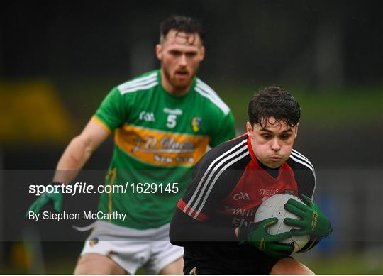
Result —
[[115, 131], [126, 154], [150, 165], [193, 166], [206, 152], [209, 136], [170, 133], [126, 124]]

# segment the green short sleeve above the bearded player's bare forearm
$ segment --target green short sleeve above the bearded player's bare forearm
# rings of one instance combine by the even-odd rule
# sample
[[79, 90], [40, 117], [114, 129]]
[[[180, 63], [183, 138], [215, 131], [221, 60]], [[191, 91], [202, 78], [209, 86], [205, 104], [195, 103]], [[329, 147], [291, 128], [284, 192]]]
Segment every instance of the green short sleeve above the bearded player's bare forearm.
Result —
[[113, 131], [126, 121], [127, 108], [123, 101], [123, 96], [117, 88], [114, 88], [101, 102], [94, 117], [101, 121], [109, 131]]

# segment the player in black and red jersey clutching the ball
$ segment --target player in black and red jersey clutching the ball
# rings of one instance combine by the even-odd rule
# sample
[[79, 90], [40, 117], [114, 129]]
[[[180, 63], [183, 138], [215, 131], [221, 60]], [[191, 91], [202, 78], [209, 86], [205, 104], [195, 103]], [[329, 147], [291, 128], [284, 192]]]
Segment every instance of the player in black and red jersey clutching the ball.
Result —
[[[279, 243], [310, 236], [309, 250], [331, 233], [330, 221], [312, 202], [313, 165], [294, 150], [300, 107], [279, 87], [267, 87], [248, 105], [247, 133], [210, 150], [193, 170], [179, 200], [170, 241], [184, 246], [184, 274], [312, 274], [291, 257], [292, 245]], [[270, 235], [277, 218], [255, 223], [255, 211], [274, 194], [294, 194], [284, 208], [300, 219], [284, 223], [299, 230]]]

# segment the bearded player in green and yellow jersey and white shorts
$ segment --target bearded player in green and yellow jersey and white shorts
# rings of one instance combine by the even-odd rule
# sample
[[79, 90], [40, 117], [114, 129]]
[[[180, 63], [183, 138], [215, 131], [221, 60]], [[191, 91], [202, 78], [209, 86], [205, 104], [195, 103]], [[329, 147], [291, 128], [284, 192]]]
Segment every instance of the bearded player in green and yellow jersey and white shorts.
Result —
[[[148, 274], [181, 274], [184, 251], [168, 235], [174, 209], [191, 167], [208, 145], [235, 136], [230, 109], [196, 77], [205, 55], [201, 23], [186, 16], [168, 18], [160, 26], [155, 53], [161, 68], [113, 88], [58, 162], [53, 181], [70, 184], [113, 134], [106, 185], [132, 183], [126, 193], [101, 194], [99, 211], [128, 216], [96, 222], [76, 274], [134, 274], [138, 267]], [[138, 189], [138, 183], [151, 186]], [[30, 211], [39, 212], [48, 201], [60, 211], [60, 193], [43, 194]]]

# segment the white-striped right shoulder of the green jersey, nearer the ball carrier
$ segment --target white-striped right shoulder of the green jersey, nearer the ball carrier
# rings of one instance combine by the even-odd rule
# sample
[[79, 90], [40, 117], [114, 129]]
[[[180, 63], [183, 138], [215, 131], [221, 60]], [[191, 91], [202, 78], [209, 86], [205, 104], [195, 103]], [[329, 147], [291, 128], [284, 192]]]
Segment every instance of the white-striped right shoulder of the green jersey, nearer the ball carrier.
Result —
[[201, 96], [201, 99], [209, 103], [208, 106], [210, 106], [212, 111], [219, 111], [219, 113], [225, 116], [230, 113], [228, 105], [218, 96], [214, 89], [199, 79], [199, 77], [196, 77], [194, 90], [197, 95]]

